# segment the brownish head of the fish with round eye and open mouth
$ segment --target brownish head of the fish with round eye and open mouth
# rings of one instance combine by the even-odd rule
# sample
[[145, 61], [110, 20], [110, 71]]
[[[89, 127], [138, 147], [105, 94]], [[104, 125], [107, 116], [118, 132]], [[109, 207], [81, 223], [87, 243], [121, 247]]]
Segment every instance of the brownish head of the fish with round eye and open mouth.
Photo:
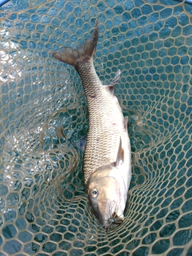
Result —
[[114, 166], [102, 166], [90, 175], [88, 198], [94, 214], [106, 229], [118, 226], [124, 218], [127, 190]]

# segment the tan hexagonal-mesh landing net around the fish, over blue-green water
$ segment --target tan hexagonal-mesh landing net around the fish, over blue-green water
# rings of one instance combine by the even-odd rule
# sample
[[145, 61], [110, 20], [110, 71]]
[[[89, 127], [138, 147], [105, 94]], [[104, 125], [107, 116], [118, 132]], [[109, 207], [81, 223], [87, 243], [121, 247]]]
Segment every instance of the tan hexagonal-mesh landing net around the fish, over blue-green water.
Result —
[[[0, 8], [0, 255], [192, 255], [192, 6], [12, 0]], [[104, 230], [83, 184], [86, 98], [52, 58], [99, 22], [94, 66], [129, 116], [126, 218]]]

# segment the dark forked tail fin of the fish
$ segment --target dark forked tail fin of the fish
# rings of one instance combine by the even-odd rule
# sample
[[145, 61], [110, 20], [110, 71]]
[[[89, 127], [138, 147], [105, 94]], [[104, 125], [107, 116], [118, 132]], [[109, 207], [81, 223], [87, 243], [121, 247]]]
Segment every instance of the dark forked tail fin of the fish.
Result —
[[98, 21], [94, 28], [94, 33], [91, 38], [84, 42], [82, 46], [78, 46], [78, 49], [74, 50], [72, 48], [65, 48], [61, 52], [53, 52], [52, 55], [54, 58], [57, 58], [59, 61], [66, 62], [72, 66], [76, 66], [78, 62], [89, 60], [93, 58], [94, 51], [98, 42]]

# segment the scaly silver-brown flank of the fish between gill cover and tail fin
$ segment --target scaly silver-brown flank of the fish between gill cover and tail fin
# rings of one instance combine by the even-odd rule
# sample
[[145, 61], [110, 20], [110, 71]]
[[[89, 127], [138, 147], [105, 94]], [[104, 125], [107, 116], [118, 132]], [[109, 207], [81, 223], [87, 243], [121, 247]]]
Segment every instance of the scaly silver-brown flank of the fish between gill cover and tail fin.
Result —
[[[123, 132], [122, 111], [114, 106], [114, 95], [102, 86], [92, 60], [78, 62], [76, 66], [86, 92], [89, 112], [89, 131], [84, 156], [84, 181], [99, 166], [116, 160], [119, 133]], [[121, 126], [118, 125], [120, 122]], [[113, 125], [113, 124], [116, 125]]]

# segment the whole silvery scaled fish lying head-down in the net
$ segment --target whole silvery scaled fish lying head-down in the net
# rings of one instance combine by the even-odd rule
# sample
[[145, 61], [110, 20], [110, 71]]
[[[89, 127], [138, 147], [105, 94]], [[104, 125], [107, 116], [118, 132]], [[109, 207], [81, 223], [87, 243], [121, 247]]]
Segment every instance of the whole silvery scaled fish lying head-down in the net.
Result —
[[118, 70], [109, 85], [102, 85], [94, 69], [98, 43], [98, 21], [89, 40], [77, 49], [62, 48], [54, 58], [74, 66], [86, 94], [89, 129], [83, 162], [86, 193], [104, 229], [116, 227], [124, 220], [131, 180], [131, 148], [127, 131], [128, 117], [122, 114], [114, 86]]

